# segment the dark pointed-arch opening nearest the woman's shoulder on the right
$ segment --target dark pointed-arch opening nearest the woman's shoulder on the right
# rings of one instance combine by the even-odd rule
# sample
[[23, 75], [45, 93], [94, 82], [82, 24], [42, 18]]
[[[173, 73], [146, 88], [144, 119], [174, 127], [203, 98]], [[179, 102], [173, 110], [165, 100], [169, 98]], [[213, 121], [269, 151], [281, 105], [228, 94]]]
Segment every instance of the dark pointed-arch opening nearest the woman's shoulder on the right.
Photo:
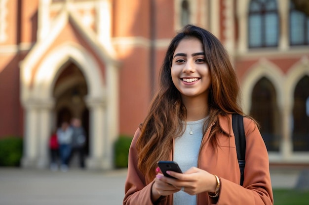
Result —
[[279, 150], [280, 119], [276, 91], [270, 80], [263, 77], [253, 88], [250, 115], [261, 125], [260, 132], [269, 151]]

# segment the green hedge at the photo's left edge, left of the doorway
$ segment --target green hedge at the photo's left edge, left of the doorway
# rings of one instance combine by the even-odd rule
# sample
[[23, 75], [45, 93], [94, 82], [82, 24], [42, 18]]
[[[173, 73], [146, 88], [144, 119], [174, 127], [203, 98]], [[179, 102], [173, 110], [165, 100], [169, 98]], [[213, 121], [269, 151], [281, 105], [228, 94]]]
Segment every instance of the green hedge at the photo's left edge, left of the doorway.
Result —
[[0, 139], [0, 166], [20, 166], [23, 153], [23, 139], [21, 137], [4, 137]]

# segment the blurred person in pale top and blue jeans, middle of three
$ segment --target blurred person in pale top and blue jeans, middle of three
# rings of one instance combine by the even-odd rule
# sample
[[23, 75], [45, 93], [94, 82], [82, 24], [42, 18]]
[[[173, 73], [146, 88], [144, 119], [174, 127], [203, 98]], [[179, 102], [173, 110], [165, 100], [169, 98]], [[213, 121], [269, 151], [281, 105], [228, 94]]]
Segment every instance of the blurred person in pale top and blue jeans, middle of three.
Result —
[[63, 172], [69, 169], [69, 159], [72, 151], [73, 129], [68, 122], [62, 122], [61, 127], [57, 130], [57, 139], [61, 158], [60, 169]]

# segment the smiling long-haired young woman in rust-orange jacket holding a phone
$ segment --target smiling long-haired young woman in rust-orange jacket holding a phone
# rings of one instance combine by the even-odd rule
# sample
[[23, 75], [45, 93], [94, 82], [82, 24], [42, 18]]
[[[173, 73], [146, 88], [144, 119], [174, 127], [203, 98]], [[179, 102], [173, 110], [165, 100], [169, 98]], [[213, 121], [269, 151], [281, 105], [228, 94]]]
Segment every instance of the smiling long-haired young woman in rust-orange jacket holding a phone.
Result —
[[[123, 205], [272, 205], [268, 152], [251, 117], [244, 117], [246, 166], [239, 185], [231, 116], [244, 114], [220, 41], [186, 26], [168, 47], [159, 83], [130, 147]], [[176, 161], [183, 174], [163, 176], [158, 161]]]

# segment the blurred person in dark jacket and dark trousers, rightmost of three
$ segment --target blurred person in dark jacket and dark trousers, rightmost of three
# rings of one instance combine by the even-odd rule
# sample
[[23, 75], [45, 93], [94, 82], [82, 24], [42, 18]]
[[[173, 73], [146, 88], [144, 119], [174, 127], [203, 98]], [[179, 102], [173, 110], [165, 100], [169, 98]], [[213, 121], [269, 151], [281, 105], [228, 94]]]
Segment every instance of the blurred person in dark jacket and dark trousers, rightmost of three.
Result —
[[85, 130], [81, 126], [81, 120], [78, 118], [72, 119], [71, 126], [73, 129], [71, 159], [72, 157], [74, 157], [75, 154], [77, 154], [79, 167], [84, 168], [85, 167], [84, 148], [86, 143]]

